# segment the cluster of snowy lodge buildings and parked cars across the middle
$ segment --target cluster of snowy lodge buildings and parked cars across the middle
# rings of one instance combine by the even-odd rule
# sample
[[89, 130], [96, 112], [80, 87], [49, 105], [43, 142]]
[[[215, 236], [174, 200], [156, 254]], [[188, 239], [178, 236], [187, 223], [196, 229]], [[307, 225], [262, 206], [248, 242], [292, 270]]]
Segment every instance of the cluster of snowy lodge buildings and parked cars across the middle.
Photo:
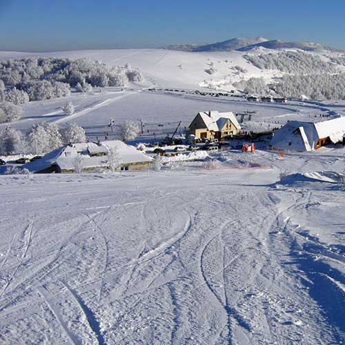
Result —
[[[287, 103], [284, 98], [253, 96], [247, 99]], [[331, 119], [328, 115], [326, 120], [321, 121], [318, 115], [309, 115], [313, 121], [288, 120], [286, 124], [277, 124], [266, 130], [244, 130], [243, 124], [246, 120], [250, 121], [253, 115], [255, 111], [249, 110], [200, 111], [184, 130], [179, 121], [173, 132], [159, 137], [150, 130], [146, 132], [146, 125], [141, 121], [137, 138], [127, 143], [121, 139], [108, 139], [107, 132], [103, 139], [100, 133], [97, 140], [68, 144], [34, 159], [21, 157], [12, 162], [9, 159], [8, 164], [34, 173], [145, 170], [155, 168], [157, 159], [164, 166], [171, 161], [200, 161], [206, 157], [217, 159], [219, 152], [253, 153], [255, 150], [277, 152], [279, 157], [283, 157], [284, 152], [311, 152], [323, 146], [337, 148], [345, 144], [345, 117], [339, 114]], [[112, 122], [109, 126], [112, 126]], [[158, 126], [163, 127], [164, 124]], [[115, 155], [112, 154], [113, 150], [116, 151]], [[6, 171], [6, 162], [3, 163], [2, 171]]]

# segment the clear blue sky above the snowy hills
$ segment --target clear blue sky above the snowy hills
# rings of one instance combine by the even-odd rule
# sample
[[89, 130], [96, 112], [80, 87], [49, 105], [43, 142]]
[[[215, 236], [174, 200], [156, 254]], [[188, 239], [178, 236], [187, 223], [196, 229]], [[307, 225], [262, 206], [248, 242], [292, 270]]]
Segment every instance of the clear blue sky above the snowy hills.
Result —
[[345, 49], [344, 0], [0, 0], [0, 50], [213, 43], [233, 37]]

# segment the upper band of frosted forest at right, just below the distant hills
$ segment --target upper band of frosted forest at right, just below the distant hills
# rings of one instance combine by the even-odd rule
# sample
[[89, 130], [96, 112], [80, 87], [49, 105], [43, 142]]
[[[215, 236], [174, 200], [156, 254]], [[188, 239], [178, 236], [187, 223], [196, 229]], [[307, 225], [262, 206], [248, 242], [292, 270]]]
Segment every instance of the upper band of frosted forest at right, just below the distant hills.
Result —
[[279, 70], [295, 75], [334, 73], [337, 66], [322, 57], [306, 52], [279, 52], [262, 55], [244, 55], [244, 58], [261, 70]]

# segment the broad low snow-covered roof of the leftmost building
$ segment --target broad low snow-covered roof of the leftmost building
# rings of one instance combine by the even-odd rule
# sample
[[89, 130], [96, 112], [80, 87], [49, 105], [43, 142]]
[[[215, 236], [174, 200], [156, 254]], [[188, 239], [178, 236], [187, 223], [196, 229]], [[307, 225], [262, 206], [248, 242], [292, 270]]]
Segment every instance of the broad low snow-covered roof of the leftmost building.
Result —
[[[89, 152], [106, 152], [107, 155], [91, 156]], [[100, 144], [95, 143], [78, 143], [62, 146], [57, 150], [53, 150], [41, 159], [25, 164], [23, 168], [27, 168], [32, 172], [39, 172], [57, 165], [61, 170], [74, 170], [75, 157], [83, 157], [81, 166], [83, 168], [95, 168], [108, 166], [108, 152], [111, 148], [115, 148], [119, 155], [119, 164], [135, 164], [150, 162], [153, 159], [142, 152], [139, 152], [133, 146], [128, 146], [119, 140], [102, 141]], [[81, 152], [81, 153], [79, 153]]]

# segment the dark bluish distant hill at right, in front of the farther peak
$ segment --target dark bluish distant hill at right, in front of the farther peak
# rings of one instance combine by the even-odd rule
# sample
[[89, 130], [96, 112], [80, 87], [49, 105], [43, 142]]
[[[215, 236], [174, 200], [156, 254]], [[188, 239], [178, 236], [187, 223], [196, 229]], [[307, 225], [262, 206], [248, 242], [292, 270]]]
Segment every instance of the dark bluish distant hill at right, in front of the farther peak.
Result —
[[336, 48], [332, 48], [329, 46], [324, 46], [320, 43], [313, 43], [313, 42], [292, 42], [292, 41], [284, 41], [281, 39], [274, 39], [272, 41], [264, 41], [252, 44], [250, 46], [242, 47], [237, 50], [246, 52], [248, 50], [252, 50], [253, 48], [267, 48], [267, 49], [288, 49], [288, 48], [295, 48], [301, 49], [306, 51], [315, 51], [315, 50], [331, 50], [331, 51], [341, 51]]

